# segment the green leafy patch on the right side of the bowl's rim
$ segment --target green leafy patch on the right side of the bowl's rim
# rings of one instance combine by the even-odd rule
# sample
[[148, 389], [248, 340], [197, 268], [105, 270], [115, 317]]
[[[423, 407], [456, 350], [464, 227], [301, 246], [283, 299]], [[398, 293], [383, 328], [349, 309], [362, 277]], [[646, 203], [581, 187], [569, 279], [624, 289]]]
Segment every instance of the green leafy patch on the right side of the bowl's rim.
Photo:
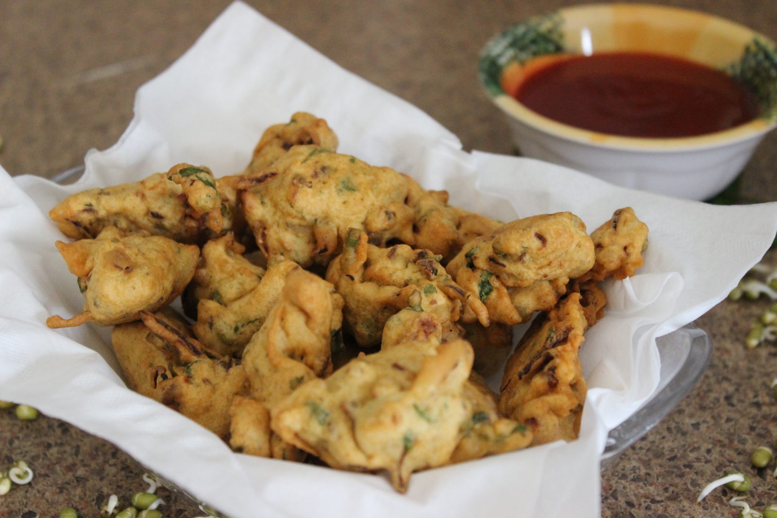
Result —
[[777, 118], [777, 47], [754, 38], [724, 71], [754, 93], [763, 118]]

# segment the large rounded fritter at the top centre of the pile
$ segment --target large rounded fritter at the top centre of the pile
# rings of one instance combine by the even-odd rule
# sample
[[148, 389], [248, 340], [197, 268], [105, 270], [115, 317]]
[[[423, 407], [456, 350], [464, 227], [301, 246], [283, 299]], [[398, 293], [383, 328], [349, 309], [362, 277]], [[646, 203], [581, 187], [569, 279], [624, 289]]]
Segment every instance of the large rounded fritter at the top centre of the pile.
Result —
[[413, 242], [413, 210], [404, 203], [405, 179], [350, 155], [317, 146], [294, 146], [240, 193], [246, 221], [265, 256], [282, 255], [301, 266], [326, 266], [343, 247], [349, 228], [366, 231], [384, 246]]

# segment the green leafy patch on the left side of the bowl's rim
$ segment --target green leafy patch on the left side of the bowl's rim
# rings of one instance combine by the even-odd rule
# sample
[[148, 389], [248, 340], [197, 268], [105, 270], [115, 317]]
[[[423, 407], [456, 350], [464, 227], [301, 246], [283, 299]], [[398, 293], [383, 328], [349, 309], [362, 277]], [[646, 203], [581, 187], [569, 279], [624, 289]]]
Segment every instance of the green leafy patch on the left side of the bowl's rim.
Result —
[[480, 82], [492, 96], [504, 93], [500, 78], [507, 64], [564, 50], [563, 17], [558, 12], [535, 16], [493, 37], [480, 54]]

